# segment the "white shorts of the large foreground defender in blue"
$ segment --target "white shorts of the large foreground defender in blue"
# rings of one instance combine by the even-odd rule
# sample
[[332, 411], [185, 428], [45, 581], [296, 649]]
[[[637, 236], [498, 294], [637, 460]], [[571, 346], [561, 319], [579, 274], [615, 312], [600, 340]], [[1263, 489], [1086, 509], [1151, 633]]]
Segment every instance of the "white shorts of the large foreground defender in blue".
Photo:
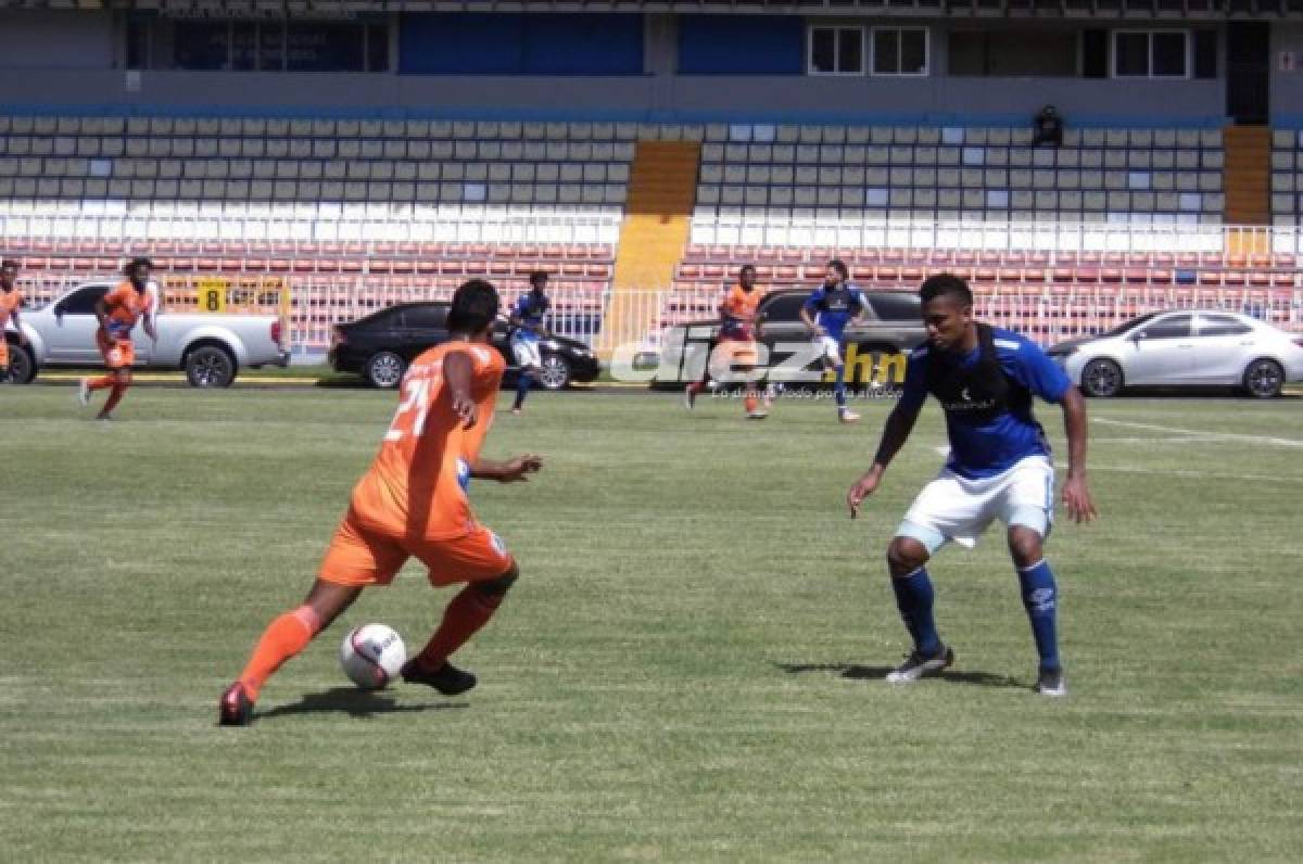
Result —
[[896, 537], [912, 537], [937, 551], [946, 541], [972, 549], [994, 520], [1024, 525], [1046, 537], [1054, 519], [1054, 467], [1028, 456], [994, 477], [967, 480], [949, 468], [923, 487]]

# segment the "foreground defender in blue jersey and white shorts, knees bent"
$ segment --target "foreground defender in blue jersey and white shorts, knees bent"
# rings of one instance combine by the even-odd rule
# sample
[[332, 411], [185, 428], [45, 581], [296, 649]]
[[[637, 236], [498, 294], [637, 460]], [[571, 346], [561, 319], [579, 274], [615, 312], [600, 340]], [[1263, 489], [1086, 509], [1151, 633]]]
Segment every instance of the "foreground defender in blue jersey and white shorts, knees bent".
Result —
[[1085, 401], [1032, 341], [973, 321], [972, 292], [963, 279], [932, 276], [919, 296], [928, 341], [909, 356], [904, 391], [882, 429], [873, 467], [847, 494], [853, 519], [908, 439], [928, 394], [936, 396], [946, 413], [950, 459], [915, 499], [887, 549], [896, 606], [913, 637], [913, 650], [887, 680], [913, 682], [954, 663], [954, 652], [933, 622], [926, 563], [946, 541], [973, 546], [999, 519], [1009, 526], [1009, 550], [1040, 654], [1036, 689], [1065, 696], [1057, 588], [1041, 549], [1054, 510], [1054, 467], [1045, 431], [1032, 416], [1032, 396], [1063, 408], [1068, 447], [1063, 503], [1078, 523], [1096, 515], [1085, 482]]

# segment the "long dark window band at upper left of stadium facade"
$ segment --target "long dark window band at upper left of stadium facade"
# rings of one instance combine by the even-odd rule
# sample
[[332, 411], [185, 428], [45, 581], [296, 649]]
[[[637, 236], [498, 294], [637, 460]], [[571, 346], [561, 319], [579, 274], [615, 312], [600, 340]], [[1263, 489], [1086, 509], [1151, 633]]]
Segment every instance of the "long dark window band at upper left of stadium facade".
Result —
[[353, 21], [177, 21], [176, 69], [388, 72], [386, 25]]

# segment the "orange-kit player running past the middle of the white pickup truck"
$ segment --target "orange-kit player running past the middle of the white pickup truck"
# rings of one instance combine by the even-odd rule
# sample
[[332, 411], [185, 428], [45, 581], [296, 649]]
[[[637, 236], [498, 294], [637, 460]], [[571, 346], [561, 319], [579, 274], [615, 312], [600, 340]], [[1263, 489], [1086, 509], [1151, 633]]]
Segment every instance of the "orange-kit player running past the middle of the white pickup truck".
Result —
[[141, 318], [145, 318], [146, 335], [155, 341], [159, 338], [158, 331], [154, 330], [154, 313], [158, 301], [150, 291], [150, 270], [152, 267], [149, 258], [132, 258], [122, 268], [126, 280], [95, 304], [95, 318], [99, 319], [95, 343], [99, 345], [99, 353], [104, 357], [104, 365], [108, 366], [108, 374], [99, 378], [82, 378], [77, 397], [81, 404], [89, 405], [93, 392], [111, 388], [98, 420], [109, 420], [117, 403], [122, 400], [122, 394], [132, 386], [132, 364], [136, 362], [132, 328]]

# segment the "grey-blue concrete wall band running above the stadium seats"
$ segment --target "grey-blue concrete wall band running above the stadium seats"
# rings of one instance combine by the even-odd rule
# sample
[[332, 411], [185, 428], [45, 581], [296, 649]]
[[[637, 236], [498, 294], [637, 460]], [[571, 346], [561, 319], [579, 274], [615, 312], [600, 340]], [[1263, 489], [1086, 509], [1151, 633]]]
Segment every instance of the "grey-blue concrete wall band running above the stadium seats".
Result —
[[[917, 23], [932, 29], [932, 74], [921, 78], [676, 74], [675, 16], [648, 16], [642, 76], [126, 73], [113, 69], [120, 39], [111, 14], [0, 13], [0, 33], [7, 36], [0, 69], [40, 69], [39, 74], [0, 74], [0, 106], [115, 112], [509, 113], [648, 121], [1018, 124], [1053, 103], [1070, 125], [1217, 125], [1225, 112], [1222, 79], [949, 77], [945, 33], [959, 25]], [[1282, 44], [1303, 50], [1303, 26], [1277, 25], [1277, 29]], [[60, 68], [48, 68], [52, 57], [57, 57]], [[1273, 86], [1273, 107], [1282, 112], [1300, 111], [1303, 76], [1277, 77], [1282, 81]]]

